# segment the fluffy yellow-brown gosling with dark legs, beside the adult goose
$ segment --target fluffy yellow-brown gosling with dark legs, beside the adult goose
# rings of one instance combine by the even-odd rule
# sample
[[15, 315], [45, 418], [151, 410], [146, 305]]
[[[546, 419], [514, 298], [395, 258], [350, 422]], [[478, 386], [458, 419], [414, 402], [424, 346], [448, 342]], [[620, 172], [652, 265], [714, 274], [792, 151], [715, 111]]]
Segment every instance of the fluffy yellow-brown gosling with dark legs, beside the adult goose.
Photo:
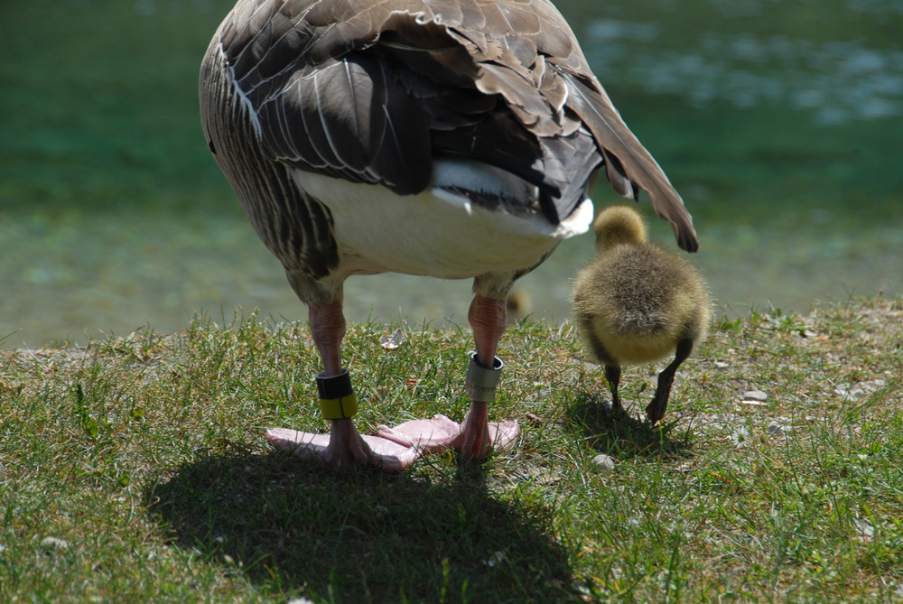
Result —
[[647, 243], [646, 223], [628, 206], [611, 206], [593, 222], [596, 256], [573, 285], [577, 327], [605, 367], [611, 408], [623, 413], [621, 365], [674, 353], [647, 406], [649, 422], [665, 417], [677, 367], [703, 342], [712, 302], [703, 277], [684, 258]]

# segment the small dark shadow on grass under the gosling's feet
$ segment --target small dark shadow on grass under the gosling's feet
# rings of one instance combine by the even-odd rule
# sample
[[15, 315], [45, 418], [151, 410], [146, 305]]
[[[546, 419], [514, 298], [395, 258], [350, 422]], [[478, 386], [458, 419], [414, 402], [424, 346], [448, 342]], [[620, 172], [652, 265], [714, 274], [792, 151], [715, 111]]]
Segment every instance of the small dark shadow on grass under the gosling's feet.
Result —
[[611, 411], [608, 398], [598, 392], [577, 392], [573, 405], [565, 412], [566, 429], [585, 439], [591, 448], [620, 460], [633, 457], [684, 459], [690, 457], [689, 434], [673, 438], [674, 424], [665, 420], [653, 426], [631, 414]]

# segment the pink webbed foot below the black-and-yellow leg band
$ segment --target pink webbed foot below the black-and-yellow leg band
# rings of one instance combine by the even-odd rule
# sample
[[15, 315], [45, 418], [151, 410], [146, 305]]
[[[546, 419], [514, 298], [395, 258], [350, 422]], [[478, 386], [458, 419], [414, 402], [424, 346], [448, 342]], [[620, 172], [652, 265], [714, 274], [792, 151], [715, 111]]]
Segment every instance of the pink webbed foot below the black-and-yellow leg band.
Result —
[[374, 466], [398, 471], [419, 460], [423, 453], [378, 436], [349, 437], [336, 434], [298, 432], [288, 428], [271, 428], [265, 432], [267, 441], [304, 460], [315, 460], [332, 469], [349, 466]]

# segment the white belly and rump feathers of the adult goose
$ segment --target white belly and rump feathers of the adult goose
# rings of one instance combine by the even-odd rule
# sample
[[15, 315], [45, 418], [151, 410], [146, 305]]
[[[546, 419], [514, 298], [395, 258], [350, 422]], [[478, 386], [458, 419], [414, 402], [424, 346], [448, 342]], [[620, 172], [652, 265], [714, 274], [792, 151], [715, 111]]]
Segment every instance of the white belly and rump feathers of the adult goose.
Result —
[[[558, 225], [542, 217], [486, 209], [442, 186], [504, 193], [523, 199], [535, 188], [479, 163], [439, 161], [430, 188], [399, 196], [385, 187], [293, 171], [298, 185], [326, 204], [335, 222], [342, 272], [404, 273], [460, 279], [536, 265], [563, 239], [590, 228], [583, 200]], [[466, 183], [466, 184], [462, 184]]]

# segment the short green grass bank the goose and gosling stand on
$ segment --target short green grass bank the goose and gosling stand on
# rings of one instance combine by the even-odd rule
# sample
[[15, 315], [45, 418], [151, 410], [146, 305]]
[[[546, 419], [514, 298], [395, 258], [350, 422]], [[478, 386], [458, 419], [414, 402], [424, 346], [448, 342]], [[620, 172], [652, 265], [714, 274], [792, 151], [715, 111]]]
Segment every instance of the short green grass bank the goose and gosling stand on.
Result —
[[[364, 431], [467, 408], [468, 330], [402, 329], [386, 350], [349, 327]], [[323, 427], [301, 324], [0, 351], [0, 599], [901, 598], [903, 301], [722, 320], [659, 428], [606, 412], [572, 326], [519, 324], [499, 354], [512, 451], [333, 475], [261, 436]], [[625, 371], [631, 414], [655, 369]]]

